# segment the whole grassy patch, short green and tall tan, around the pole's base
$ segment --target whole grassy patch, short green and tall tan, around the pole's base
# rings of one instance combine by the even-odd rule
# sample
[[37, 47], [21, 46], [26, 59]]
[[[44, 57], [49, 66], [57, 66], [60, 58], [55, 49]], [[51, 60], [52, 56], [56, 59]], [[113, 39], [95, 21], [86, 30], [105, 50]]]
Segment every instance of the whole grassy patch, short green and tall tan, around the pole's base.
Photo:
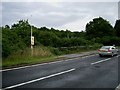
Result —
[[50, 52], [49, 48], [44, 46], [39, 46], [33, 48], [33, 54], [31, 54], [31, 49], [26, 48], [14, 52], [8, 58], [3, 60], [3, 68], [7, 67], [17, 67], [27, 64], [43, 63], [53, 60], [55, 56]]

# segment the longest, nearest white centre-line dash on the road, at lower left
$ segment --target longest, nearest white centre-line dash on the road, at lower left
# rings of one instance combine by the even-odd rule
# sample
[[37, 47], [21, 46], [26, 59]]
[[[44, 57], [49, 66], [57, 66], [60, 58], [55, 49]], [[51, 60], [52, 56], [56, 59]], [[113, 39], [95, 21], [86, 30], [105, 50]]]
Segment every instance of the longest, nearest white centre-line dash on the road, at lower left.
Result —
[[9, 86], [9, 87], [6, 87], [4, 89], [11, 89], [11, 88], [19, 87], [19, 86], [22, 86], [22, 85], [26, 85], [26, 84], [36, 82], [36, 81], [40, 81], [40, 80], [44, 80], [44, 79], [51, 78], [51, 77], [54, 77], [54, 76], [58, 76], [58, 75], [61, 75], [61, 74], [65, 74], [65, 73], [68, 73], [68, 72], [71, 72], [71, 71], [74, 71], [74, 70], [75, 70], [75, 68], [67, 70], [67, 71], [59, 72], [59, 73], [56, 73], [56, 74], [52, 74], [52, 75], [49, 75], [49, 76], [45, 76], [45, 77], [42, 77], [42, 78], [38, 78], [38, 79], [35, 79], [35, 80], [31, 80], [31, 81], [28, 81], [28, 82], [24, 82], [24, 83], [20, 83], [20, 84], [17, 84], [17, 85]]

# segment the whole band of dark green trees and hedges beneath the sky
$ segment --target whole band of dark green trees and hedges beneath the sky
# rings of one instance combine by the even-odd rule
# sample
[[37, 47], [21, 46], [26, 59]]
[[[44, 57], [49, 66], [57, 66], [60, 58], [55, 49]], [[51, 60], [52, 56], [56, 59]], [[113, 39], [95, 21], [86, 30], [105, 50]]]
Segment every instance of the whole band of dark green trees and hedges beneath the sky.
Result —
[[[49, 47], [88, 46], [94, 44], [120, 46], [120, 20], [113, 27], [102, 17], [94, 18], [86, 24], [85, 31], [71, 32], [47, 27], [32, 26], [35, 37], [34, 47], [44, 45]], [[2, 56], [8, 57], [13, 52], [24, 50], [31, 45], [31, 25], [28, 20], [2, 27]]]

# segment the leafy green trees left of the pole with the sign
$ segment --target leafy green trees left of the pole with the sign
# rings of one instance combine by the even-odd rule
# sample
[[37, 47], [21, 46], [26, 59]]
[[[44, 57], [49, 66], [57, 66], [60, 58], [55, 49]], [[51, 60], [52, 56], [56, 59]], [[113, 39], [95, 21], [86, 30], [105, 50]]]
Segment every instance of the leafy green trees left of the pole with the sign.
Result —
[[25, 49], [30, 45], [30, 26], [28, 21], [21, 20], [2, 28], [2, 56], [7, 57], [12, 53]]

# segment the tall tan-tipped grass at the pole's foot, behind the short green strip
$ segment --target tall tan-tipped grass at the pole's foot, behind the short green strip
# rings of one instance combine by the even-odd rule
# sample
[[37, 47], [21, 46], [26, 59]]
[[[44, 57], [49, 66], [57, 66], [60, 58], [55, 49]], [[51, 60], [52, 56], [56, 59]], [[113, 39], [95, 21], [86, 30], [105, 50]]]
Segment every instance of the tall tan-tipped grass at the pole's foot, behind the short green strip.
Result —
[[[50, 57], [53, 56], [51, 51], [44, 46], [38, 46], [33, 48], [33, 53], [31, 48], [25, 48], [24, 50], [18, 50], [14, 53], [12, 53], [10, 56], [8, 56], [6, 59], [21, 59], [21, 58], [32, 58], [32, 57]], [[21, 59], [22, 60], [22, 59]]]

